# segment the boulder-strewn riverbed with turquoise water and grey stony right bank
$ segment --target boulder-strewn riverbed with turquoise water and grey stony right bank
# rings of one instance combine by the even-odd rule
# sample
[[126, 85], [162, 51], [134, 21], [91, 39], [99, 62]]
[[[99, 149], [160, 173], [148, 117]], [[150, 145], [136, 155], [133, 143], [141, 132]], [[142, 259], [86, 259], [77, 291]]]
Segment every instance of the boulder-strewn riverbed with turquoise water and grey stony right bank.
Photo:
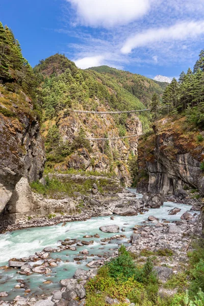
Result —
[[[131, 196], [130, 198], [134, 197]], [[141, 203], [140, 199], [137, 199], [137, 201]], [[179, 207], [181, 211], [172, 215], [171, 211], [174, 207]], [[68, 285], [68, 287], [63, 286], [61, 290], [62, 282], [60, 285], [60, 279], [73, 277], [78, 267], [83, 269], [82, 273], [90, 273], [87, 274], [87, 278], [92, 277], [96, 273], [96, 268], [110, 260], [111, 257], [117, 256], [117, 248], [121, 243], [137, 255], [144, 249], [152, 252], [163, 248], [171, 249], [173, 251], [171, 262], [168, 262], [168, 258], [161, 257], [159, 266], [165, 264], [172, 266], [172, 268], [169, 268], [173, 269], [172, 271], [178, 271], [181, 262], [185, 263], [187, 260], [185, 247], [196, 220], [195, 212], [190, 213], [192, 216], [190, 220], [181, 219], [188, 209], [190, 207], [186, 205], [175, 205], [175, 203], [167, 202], [160, 209], [149, 209], [148, 212], [138, 214], [138, 216], [112, 215], [111, 218], [110, 216], [100, 216], [85, 222], [28, 228], [28, 230], [1, 235], [0, 244], [4, 241], [8, 245], [13, 241], [15, 245], [15, 242], [18, 241], [16, 247], [22, 248], [22, 250], [13, 249], [11, 243], [10, 247], [5, 246], [5, 249], [3, 249], [4, 260], [2, 263], [5, 266], [0, 270], [0, 282], [2, 283], [1, 291], [5, 296], [2, 299], [13, 300], [14, 305], [38, 305], [40, 301], [37, 303], [36, 300], [42, 298], [42, 305], [46, 305], [46, 303], [47, 305], [53, 305], [54, 302], [56, 305], [78, 305], [75, 300], [68, 301], [70, 299], [69, 294], [60, 301], [61, 294], [70, 291]], [[173, 223], [169, 223], [171, 221]], [[107, 225], [111, 225], [111, 228], [106, 227], [99, 230], [99, 227]], [[112, 232], [114, 228], [116, 233], [106, 233], [107, 228], [108, 232]], [[37, 237], [44, 241], [39, 240], [38, 246], [33, 245], [32, 247], [31, 236], [33, 236], [33, 244], [36, 243]], [[3, 240], [3, 237], [5, 237], [5, 240]], [[24, 249], [25, 244], [27, 250]], [[11, 247], [12, 251], [10, 252]], [[20, 254], [22, 256], [19, 256]], [[8, 262], [8, 260], [10, 261]], [[79, 270], [77, 271], [79, 272]], [[170, 272], [170, 270], [168, 271]], [[163, 270], [159, 268], [158, 272], [161, 275], [164, 274]], [[83, 279], [82, 287], [85, 285], [85, 281], [86, 279]], [[46, 296], [52, 292], [54, 293], [53, 301], [50, 298], [46, 300]], [[75, 292], [76, 294], [78, 299], [81, 297], [81, 305], [83, 305], [84, 297], [82, 298], [82, 295], [79, 296]], [[18, 295], [21, 297], [16, 299]], [[63, 297], [65, 297], [65, 294]]]

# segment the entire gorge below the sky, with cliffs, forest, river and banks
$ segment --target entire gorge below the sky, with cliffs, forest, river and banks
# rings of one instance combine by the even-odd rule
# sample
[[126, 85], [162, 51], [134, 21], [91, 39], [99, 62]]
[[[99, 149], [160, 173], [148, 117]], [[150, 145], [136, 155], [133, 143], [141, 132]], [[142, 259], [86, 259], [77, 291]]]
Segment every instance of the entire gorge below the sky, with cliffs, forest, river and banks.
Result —
[[0, 305], [202, 302], [203, 53], [170, 85], [32, 68], [0, 22], [0, 55]]

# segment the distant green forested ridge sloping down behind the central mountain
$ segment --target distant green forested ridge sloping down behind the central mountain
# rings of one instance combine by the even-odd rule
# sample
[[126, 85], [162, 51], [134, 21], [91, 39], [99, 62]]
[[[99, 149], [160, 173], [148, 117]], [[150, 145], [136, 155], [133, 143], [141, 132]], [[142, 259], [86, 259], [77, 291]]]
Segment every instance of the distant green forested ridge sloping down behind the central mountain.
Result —
[[108, 80], [117, 82], [118, 85], [136, 96], [145, 106], [149, 106], [154, 93], [157, 93], [161, 97], [164, 89], [168, 86], [168, 83], [154, 81], [140, 74], [134, 74], [108, 66], [91, 67], [89, 70], [102, 73]]

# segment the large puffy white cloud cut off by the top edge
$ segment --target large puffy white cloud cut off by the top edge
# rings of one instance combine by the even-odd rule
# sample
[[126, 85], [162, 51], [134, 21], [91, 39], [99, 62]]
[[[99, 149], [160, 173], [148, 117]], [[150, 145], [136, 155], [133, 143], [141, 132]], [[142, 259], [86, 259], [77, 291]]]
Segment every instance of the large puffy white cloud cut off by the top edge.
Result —
[[130, 23], [148, 12], [151, 0], [66, 0], [77, 10], [79, 21], [104, 28]]

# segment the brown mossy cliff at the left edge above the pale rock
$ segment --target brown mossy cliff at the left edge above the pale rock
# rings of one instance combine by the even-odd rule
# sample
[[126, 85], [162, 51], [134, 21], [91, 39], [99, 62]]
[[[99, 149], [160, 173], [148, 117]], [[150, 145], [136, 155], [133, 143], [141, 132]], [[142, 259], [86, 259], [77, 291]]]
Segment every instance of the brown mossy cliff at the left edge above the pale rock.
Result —
[[0, 213], [22, 176], [38, 180], [45, 162], [44, 144], [31, 100], [0, 87]]

